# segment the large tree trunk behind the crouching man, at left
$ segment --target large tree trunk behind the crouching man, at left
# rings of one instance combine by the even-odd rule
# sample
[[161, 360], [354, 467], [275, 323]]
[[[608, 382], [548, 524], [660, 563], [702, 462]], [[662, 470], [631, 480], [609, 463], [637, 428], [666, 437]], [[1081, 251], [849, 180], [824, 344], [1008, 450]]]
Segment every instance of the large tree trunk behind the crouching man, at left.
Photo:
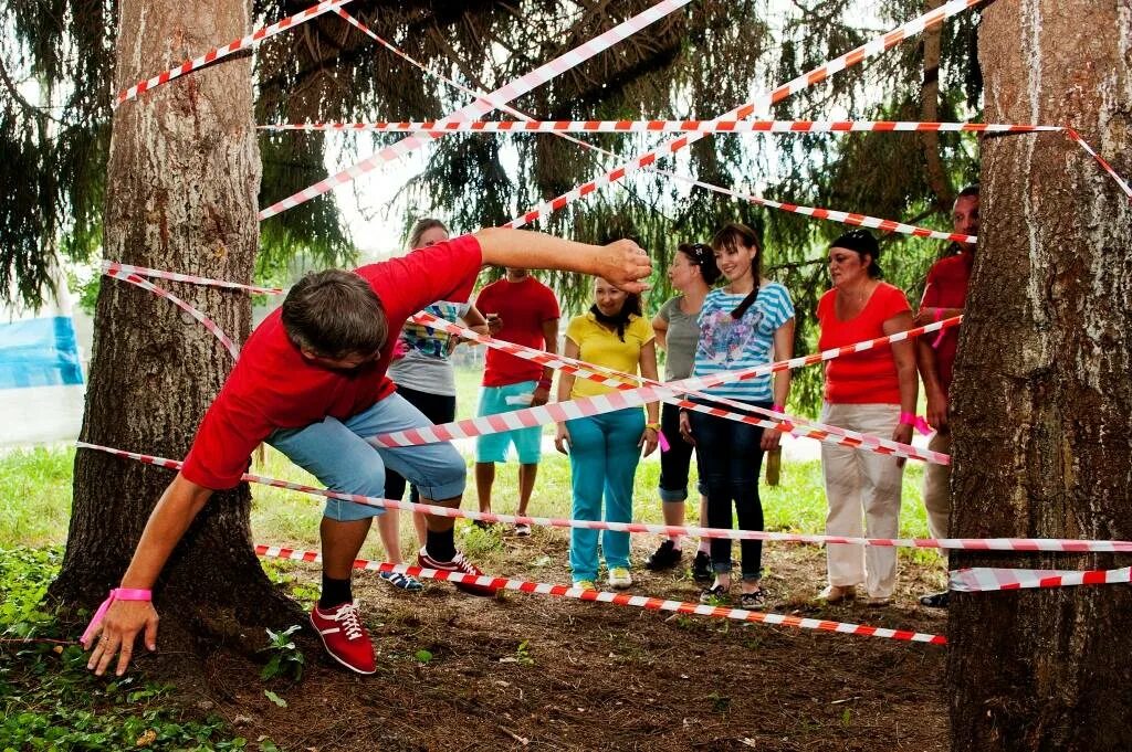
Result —
[[[206, 10], [178, 0], [121, 2], [114, 92], [248, 32], [250, 3], [207, 5]], [[250, 57], [230, 58], [123, 103], [114, 114], [108, 170], [105, 258], [249, 282], [260, 173]], [[247, 294], [160, 284], [203, 310], [233, 340], [247, 338]], [[111, 278], [102, 284], [94, 331], [83, 439], [183, 458], [232, 369], [231, 355], [170, 302]], [[79, 450], [55, 596], [91, 606], [117, 586], [172, 476]], [[292, 613], [256, 560], [249, 505], [246, 485], [216, 494], [165, 567], [155, 594], [163, 646], [186, 632], [254, 645], [263, 631], [241, 626], [277, 625]]]

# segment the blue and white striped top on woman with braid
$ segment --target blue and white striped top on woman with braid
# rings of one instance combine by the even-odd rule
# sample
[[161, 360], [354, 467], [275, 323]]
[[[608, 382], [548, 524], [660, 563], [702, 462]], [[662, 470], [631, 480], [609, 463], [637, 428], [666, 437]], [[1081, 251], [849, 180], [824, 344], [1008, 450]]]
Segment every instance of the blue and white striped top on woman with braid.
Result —
[[[770, 362], [774, 332], [794, 318], [790, 293], [772, 282], [758, 291], [754, 304], [743, 318], [732, 319], [731, 311], [745, 297], [745, 294], [730, 294], [722, 289], [707, 293], [700, 309], [700, 342], [693, 375], [738, 371]], [[770, 375], [732, 381], [704, 391], [748, 403], [773, 401]]]

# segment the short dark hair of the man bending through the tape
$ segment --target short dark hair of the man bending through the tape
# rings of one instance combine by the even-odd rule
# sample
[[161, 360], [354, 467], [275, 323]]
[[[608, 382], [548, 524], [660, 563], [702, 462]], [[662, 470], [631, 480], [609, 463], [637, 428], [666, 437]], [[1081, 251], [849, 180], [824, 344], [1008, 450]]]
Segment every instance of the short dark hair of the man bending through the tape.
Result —
[[389, 325], [369, 283], [341, 269], [311, 271], [283, 301], [283, 328], [297, 347], [323, 357], [372, 355]]

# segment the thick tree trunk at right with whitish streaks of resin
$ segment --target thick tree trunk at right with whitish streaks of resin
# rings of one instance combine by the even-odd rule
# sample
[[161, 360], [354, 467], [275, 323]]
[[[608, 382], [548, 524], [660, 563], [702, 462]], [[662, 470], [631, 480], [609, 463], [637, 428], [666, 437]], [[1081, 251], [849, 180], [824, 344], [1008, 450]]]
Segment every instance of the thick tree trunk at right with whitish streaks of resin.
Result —
[[[987, 122], [1071, 124], [1132, 170], [1127, 0], [996, 2]], [[1132, 538], [1132, 208], [1060, 135], [990, 138], [957, 379], [953, 535]], [[952, 553], [1109, 569], [1127, 555]], [[1132, 589], [953, 594], [954, 750], [1132, 749]]]

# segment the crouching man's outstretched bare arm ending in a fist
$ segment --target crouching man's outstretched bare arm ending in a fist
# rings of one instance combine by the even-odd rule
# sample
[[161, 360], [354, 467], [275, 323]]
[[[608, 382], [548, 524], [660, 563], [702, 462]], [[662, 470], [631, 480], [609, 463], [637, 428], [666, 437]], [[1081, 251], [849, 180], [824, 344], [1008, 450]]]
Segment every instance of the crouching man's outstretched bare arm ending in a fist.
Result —
[[483, 253], [483, 263], [523, 269], [559, 269], [578, 271], [609, 280], [628, 293], [646, 289], [644, 279], [652, 273], [652, 262], [631, 240], [608, 245], [590, 245], [554, 235], [488, 227], [475, 233]]

